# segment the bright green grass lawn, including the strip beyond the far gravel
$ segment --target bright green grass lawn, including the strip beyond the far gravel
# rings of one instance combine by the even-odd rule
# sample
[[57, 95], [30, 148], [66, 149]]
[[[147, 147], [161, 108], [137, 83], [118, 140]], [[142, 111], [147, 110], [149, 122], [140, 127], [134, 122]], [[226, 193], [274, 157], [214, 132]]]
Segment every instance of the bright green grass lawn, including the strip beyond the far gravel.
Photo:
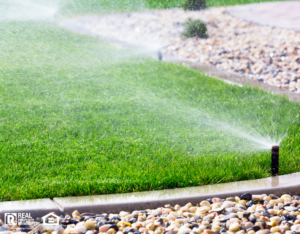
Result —
[[[114, 10], [130, 9], [125, 3], [114, 1]], [[72, 4], [61, 14], [107, 11], [112, 3]], [[249, 140], [254, 132], [287, 131], [280, 174], [300, 171], [300, 103], [53, 22], [2, 21], [0, 33], [1, 200], [267, 177], [270, 152]]]

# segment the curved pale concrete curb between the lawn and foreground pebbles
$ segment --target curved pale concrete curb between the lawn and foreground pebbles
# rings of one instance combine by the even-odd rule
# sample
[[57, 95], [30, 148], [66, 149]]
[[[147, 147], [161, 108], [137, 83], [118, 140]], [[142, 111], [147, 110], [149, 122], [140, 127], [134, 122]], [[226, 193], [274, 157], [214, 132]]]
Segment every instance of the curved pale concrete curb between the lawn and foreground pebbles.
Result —
[[31, 213], [32, 217], [41, 217], [49, 212], [55, 212], [58, 215], [70, 215], [74, 210], [78, 210], [79, 212], [116, 213], [122, 210], [153, 209], [162, 207], [165, 204], [185, 205], [188, 202], [196, 204], [209, 197], [226, 198], [241, 195], [245, 192], [252, 194], [273, 193], [278, 196], [287, 193], [300, 194], [300, 172], [258, 180], [179, 189], [64, 197], [54, 198], [53, 200], [37, 199], [1, 202], [0, 218], [3, 220], [4, 213]]

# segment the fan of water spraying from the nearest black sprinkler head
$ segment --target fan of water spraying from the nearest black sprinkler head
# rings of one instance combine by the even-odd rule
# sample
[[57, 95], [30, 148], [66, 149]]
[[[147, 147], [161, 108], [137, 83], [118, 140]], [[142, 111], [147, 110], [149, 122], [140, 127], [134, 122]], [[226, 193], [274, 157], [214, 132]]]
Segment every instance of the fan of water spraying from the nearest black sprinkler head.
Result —
[[[286, 115], [286, 119], [278, 122], [278, 116], [270, 113], [268, 116], [270, 125], [264, 126], [265, 120], [260, 119], [254, 113], [251, 117], [228, 115], [228, 112], [212, 109], [207, 110], [206, 106], [198, 105], [191, 106], [188, 103], [183, 103], [178, 99], [169, 99], [160, 97], [159, 91], [154, 94], [147, 89], [135, 91], [141, 106], [150, 109], [151, 112], [162, 113], [163, 116], [169, 116], [168, 121], [172, 125], [172, 121], [183, 123], [184, 126], [192, 126], [193, 133], [189, 137], [199, 137], [198, 145], [193, 145], [194, 151], [201, 153], [205, 145], [209, 144], [212, 151], [220, 150], [223, 152], [234, 151], [257, 151], [270, 150], [273, 145], [279, 145], [282, 139], [287, 134], [288, 124], [293, 122], [293, 118]], [[157, 95], [158, 94], [158, 95]], [[255, 97], [253, 97], [255, 103]], [[130, 99], [132, 100], [132, 99]], [[259, 104], [259, 100], [256, 101]], [[143, 104], [142, 104], [143, 103]], [[253, 126], [247, 125], [247, 119], [252, 119], [255, 123]], [[167, 128], [167, 127], [166, 127]], [[213, 132], [216, 139], [211, 140], [208, 134], [207, 141], [204, 140], [203, 134]], [[172, 129], [170, 130], [172, 132]], [[172, 132], [167, 136], [174, 142], [182, 141], [182, 136]], [[187, 136], [188, 137], [188, 136]], [[194, 138], [194, 139], [195, 139]], [[201, 139], [201, 140], [200, 140]], [[202, 142], [201, 142], [202, 141]]]

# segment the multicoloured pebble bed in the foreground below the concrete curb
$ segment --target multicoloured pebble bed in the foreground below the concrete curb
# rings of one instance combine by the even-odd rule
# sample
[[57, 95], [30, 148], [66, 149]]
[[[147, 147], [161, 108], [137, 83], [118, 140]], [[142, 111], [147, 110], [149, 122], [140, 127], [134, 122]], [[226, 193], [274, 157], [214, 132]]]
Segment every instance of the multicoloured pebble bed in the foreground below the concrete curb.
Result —
[[[42, 219], [37, 218], [36, 222], [42, 223]], [[71, 215], [60, 216], [59, 225], [50, 227], [39, 225], [31, 233], [297, 234], [300, 233], [300, 197], [245, 193], [240, 197], [211, 198], [199, 204], [165, 205], [131, 213], [80, 214], [76, 210]], [[29, 228], [10, 224], [2, 225], [0, 230], [1, 233], [26, 232]]]

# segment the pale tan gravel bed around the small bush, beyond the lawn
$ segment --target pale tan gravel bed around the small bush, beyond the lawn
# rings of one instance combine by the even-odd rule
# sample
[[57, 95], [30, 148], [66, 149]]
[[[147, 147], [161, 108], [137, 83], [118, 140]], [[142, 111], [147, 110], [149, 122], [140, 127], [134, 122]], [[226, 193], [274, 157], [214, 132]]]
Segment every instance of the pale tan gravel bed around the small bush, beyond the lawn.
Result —
[[[85, 33], [147, 50], [161, 50], [163, 56], [212, 65], [300, 93], [300, 32], [233, 18], [226, 9], [170, 9], [79, 17], [72, 19], [71, 24]], [[203, 20], [209, 38], [182, 37], [182, 23], [188, 18]], [[71, 21], [62, 25], [70, 27]]]

